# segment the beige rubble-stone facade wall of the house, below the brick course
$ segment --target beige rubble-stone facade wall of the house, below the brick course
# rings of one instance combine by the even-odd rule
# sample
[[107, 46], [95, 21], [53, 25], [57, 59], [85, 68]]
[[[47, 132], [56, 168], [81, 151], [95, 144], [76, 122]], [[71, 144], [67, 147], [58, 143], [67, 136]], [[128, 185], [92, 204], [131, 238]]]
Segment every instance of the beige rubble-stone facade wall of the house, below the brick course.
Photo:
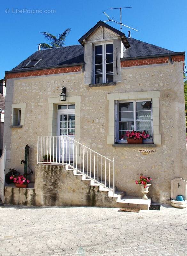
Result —
[[[30, 165], [35, 170], [37, 136], [48, 135], [48, 98], [59, 97], [66, 86], [67, 96], [81, 96], [80, 142], [98, 153], [115, 158], [115, 181], [118, 190], [127, 195], [141, 196], [135, 184], [140, 173], [152, 177], [150, 196], [154, 202], [168, 203], [170, 180], [186, 173], [186, 132], [184, 112], [183, 63], [126, 67], [121, 69], [121, 82], [116, 86], [93, 87], [84, 84], [81, 72], [15, 78], [14, 97], [6, 103], [7, 127], [11, 119], [11, 104], [26, 102], [25, 125], [8, 130], [11, 140], [11, 168], [23, 170], [20, 160], [24, 147], [30, 146]], [[7, 79], [7, 88], [13, 79]], [[10, 82], [9, 82], [10, 81]], [[11, 88], [12, 90], [12, 88]], [[160, 91], [159, 114], [161, 145], [156, 153], [139, 153], [138, 148], [117, 148], [107, 145], [108, 93]], [[11, 134], [12, 132], [12, 134]], [[4, 135], [5, 136], [5, 135]], [[31, 177], [34, 181], [34, 175]]]

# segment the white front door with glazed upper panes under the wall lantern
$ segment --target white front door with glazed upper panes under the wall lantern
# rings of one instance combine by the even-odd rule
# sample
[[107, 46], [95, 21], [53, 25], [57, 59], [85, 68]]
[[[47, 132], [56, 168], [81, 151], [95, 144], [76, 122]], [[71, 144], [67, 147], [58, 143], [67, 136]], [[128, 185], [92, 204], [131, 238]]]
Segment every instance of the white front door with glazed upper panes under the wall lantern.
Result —
[[[67, 109], [59, 109], [67, 106]], [[74, 141], [69, 140], [68, 136], [75, 139], [75, 109], [72, 109], [74, 105], [62, 105], [58, 106], [57, 111], [57, 136], [60, 137], [60, 160], [64, 162], [70, 162], [73, 160]], [[71, 106], [71, 108], [70, 108]], [[64, 150], [63, 150], [64, 140]], [[64, 152], [64, 156], [62, 155]], [[59, 158], [59, 157], [58, 157]], [[59, 160], [59, 159], [58, 159]]]

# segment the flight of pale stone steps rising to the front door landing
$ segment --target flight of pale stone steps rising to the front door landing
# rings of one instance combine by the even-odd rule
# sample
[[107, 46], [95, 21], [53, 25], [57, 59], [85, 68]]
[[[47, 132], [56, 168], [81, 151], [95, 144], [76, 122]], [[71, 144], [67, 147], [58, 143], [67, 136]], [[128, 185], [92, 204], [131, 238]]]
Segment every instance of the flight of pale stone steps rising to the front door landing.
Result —
[[[75, 176], [80, 176], [82, 178], [82, 182], [89, 182], [91, 187], [95, 187], [98, 189], [99, 193], [106, 193], [108, 198], [113, 198], [115, 203], [113, 204], [113, 207], [115, 208], [139, 208], [141, 210], [149, 210], [149, 206], [151, 204], [151, 199], [144, 200], [141, 199], [140, 197], [133, 197], [133, 196], [126, 196], [124, 191], [118, 191], [117, 188], [115, 187], [115, 194], [113, 195], [113, 192], [109, 190], [108, 188], [105, 188], [104, 186], [94, 182], [94, 180], [97, 180], [99, 183], [109, 186], [108, 181], [106, 180], [101, 180], [101, 177], [94, 177], [93, 173], [89, 173], [90, 178], [86, 177], [84, 174], [85, 170], [83, 168], [79, 169], [79, 165], [77, 165], [77, 169], [72, 166], [75, 166], [74, 164], [67, 164], [65, 166], [66, 171], [71, 171], [73, 172], [73, 175]], [[112, 186], [110, 188], [113, 189]]]

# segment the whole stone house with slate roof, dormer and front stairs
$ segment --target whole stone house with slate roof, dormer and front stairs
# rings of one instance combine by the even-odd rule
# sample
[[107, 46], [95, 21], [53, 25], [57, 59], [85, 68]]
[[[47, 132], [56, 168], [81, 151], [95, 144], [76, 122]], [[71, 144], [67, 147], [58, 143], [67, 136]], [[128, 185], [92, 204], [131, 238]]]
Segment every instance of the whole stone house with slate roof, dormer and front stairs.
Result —
[[[135, 183], [142, 173], [152, 178], [152, 201], [168, 204], [170, 181], [187, 179], [185, 52], [102, 21], [78, 41], [38, 50], [5, 72], [6, 170], [23, 170], [28, 144], [34, 172], [30, 189], [6, 186], [5, 202], [148, 209]], [[152, 137], [128, 144], [133, 129]]]

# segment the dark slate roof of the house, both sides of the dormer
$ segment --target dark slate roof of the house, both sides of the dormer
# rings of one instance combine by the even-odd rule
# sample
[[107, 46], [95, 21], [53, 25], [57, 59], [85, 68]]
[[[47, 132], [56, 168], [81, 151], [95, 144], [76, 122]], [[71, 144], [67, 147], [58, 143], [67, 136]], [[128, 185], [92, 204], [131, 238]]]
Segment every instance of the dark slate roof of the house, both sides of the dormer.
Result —
[[[135, 59], [138, 57], [152, 57], [156, 55], [163, 54], [165, 56], [169, 55], [182, 55], [185, 52], [173, 52], [165, 48], [148, 44], [143, 41], [128, 37], [128, 42], [130, 47], [125, 49], [123, 59]], [[23, 68], [29, 60], [39, 60], [41, 59], [35, 67]], [[49, 48], [44, 50], [39, 50], [29, 56], [26, 60], [22, 61], [18, 66], [13, 68], [11, 71], [6, 71], [5, 73], [13, 71], [26, 71], [26, 70], [37, 70], [45, 68], [57, 68], [61, 65], [81, 65], [84, 62], [84, 47], [80, 45], [64, 46], [58, 48]]]

